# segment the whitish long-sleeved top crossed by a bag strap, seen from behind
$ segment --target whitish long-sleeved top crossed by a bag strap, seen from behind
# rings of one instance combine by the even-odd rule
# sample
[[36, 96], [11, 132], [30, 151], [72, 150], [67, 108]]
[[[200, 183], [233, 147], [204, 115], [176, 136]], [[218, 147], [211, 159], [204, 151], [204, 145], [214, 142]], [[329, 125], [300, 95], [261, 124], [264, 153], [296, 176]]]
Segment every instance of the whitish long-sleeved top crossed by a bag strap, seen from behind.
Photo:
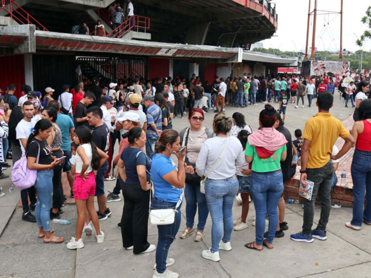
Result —
[[[203, 143], [198, 159], [196, 161], [197, 174], [199, 176], [206, 175], [216, 160], [219, 158], [227, 137], [209, 138]], [[211, 171], [208, 178], [210, 179], [226, 179], [231, 178], [236, 174], [236, 165], [244, 165], [246, 163], [243, 155], [242, 145], [236, 137], [229, 137], [229, 142], [223, 157], [219, 163]]]

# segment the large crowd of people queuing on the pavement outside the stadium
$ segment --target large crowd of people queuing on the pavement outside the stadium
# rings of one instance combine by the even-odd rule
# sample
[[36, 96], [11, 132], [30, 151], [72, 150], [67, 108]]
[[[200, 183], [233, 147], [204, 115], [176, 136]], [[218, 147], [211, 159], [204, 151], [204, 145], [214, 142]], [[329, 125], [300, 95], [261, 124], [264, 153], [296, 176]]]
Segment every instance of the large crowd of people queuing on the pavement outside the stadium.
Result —
[[[360, 230], [362, 222], [371, 225], [371, 100], [367, 80], [357, 82], [354, 92], [352, 89], [355, 124], [350, 134], [329, 112], [334, 102], [334, 80], [326, 75], [318, 80], [316, 86], [317, 78], [313, 81], [298, 75], [216, 76], [213, 84], [205, 82], [202, 86], [195, 75], [188, 82], [179, 77], [147, 81], [135, 77], [117, 83], [94, 78], [91, 82], [77, 81], [74, 87], [63, 85], [59, 95], [53, 94], [55, 89], [51, 87], [41, 93], [23, 85], [19, 99], [14, 96], [16, 86], [10, 84], [1, 96], [0, 169], [12, 167], [5, 163], [8, 153], [13, 165], [22, 156], [27, 157], [28, 168], [37, 171], [37, 180], [20, 192], [22, 220], [37, 222], [38, 237], [56, 244], [64, 238], [54, 234], [50, 221], [63, 213], [67, 197], [62, 172], [66, 172], [68, 195], [75, 198], [78, 216], [76, 234], [68, 242], [68, 249], [83, 248], [82, 234], [91, 236], [92, 225], [96, 241], [104, 241], [101, 221], [112, 215], [108, 203], [121, 201], [122, 191], [124, 206], [118, 226], [123, 248], [134, 254], [156, 251], [154, 278], [178, 277], [168, 269], [175, 263], [168, 258], [168, 251], [181, 226], [183, 196], [186, 222], [181, 239], [194, 234], [194, 241], [202, 241], [206, 219], [209, 213], [211, 216], [211, 246], [201, 253], [203, 258], [219, 261], [220, 250], [232, 249], [232, 231], [249, 226], [250, 199], [256, 211], [252, 223], [255, 241], [245, 246], [257, 251], [263, 246], [273, 248], [273, 239], [284, 236], [283, 231], [288, 229], [283, 186], [295, 175], [298, 163], [301, 182], [307, 179], [314, 186], [311, 201], [304, 199], [303, 229], [290, 238], [302, 242], [325, 240], [331, 192], [337, 181], [334, 166], [354, 145], [353, 218], [345, 225], [354, 230]], [[304, 107], [305, 95], [309, 107], [312, 97], [316, 97], [318, 113], [306, 122], [303, 132], [295, 131], [296, 140], [292, 140], [284, 126], [286, 107], [293, 103], [298, 108], [299, 99]], [[350, 89], [347, 96], [351, 96]], [[232, 117], [225, 113], [227, 104], [246, 107], [259, 102], [263, 103], [259, 119], [247, 119], [258, 121], [257, 130], [246, 123], [241, 113], [244, 110]], [[205, 113], [213, 106], [213, 124], [206, 127]], [[189, 126], [177, 132], [173, 119], [184, 116]], [[335, 145], [339, 136], [345, 141], [340, 150]], [[114, 156], [116, 141], [119, 150]], [[114, 176], [116, 167], [118, 175]], [[5, 178], [9, 176], [0, 172], [0, 179]], [[106, 192], [105, 181], [114, 180], [113, 192]], [[233, 219], [232, 206], [238, 193], [242, 212]], [[321, 216], [312, 229], [316, 195], [321, 199]], [[0, 196], [4, 196], [1, 191]], [[167, 209], [174, 212], [173, 220], [157, 226], [157, 246], [150, 244], [148, 218], [153, 211]]]

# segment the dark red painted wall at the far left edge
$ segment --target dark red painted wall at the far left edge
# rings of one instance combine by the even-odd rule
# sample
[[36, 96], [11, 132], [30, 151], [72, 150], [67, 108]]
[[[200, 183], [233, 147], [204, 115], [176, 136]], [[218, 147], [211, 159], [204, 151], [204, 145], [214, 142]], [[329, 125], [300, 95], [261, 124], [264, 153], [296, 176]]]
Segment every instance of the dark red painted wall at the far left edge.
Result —
[[21, 85], [24, 84], [24, 55], [0, 56], [0, 88], [5, 90], [9, 84], [16, 85], [17, 98], [20, 97]]

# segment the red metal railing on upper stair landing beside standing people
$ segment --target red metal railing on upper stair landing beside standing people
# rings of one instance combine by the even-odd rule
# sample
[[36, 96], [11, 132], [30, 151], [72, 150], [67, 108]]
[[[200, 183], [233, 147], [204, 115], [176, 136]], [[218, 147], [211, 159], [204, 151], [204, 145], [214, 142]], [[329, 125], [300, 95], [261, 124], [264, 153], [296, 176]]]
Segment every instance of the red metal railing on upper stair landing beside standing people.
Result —
[[122, 38], [129, 31], [144, 32], [151, 27], [151, 20], [149, 17], [144, 16], [131, 16], [125, 20], [120, 26], [112, 30], [106, 37]]

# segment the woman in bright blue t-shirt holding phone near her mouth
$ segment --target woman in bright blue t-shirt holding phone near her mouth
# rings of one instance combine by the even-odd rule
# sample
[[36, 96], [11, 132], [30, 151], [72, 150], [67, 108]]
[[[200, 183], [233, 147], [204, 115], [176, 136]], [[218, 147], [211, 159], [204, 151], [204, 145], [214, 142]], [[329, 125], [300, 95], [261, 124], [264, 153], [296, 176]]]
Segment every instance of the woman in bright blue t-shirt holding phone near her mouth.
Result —
[[[151, 177], [154, 185], [154, 195], [151, 209], [175, 208], [185, 184], [185, 169], [183, 158], [185, 148], [180, 150], [180, 138], [173, 129], [164, 130], [155, 145], [155, 155], [152, 159]], [[178, 158], [178, 166], [171, 159], [174, 154]], [[191, 167], [193, 169], [193, 167]], [[158, 225], [158, 243], [156, 250], [156, 277], [178, 277], [175, 272], [167, 269], [174, 264], [174, 259], [167, 259], [170, 245], [173, 243], [179, 230], [181, 214], [180, 206], [175, 213], [173, 224]]]

